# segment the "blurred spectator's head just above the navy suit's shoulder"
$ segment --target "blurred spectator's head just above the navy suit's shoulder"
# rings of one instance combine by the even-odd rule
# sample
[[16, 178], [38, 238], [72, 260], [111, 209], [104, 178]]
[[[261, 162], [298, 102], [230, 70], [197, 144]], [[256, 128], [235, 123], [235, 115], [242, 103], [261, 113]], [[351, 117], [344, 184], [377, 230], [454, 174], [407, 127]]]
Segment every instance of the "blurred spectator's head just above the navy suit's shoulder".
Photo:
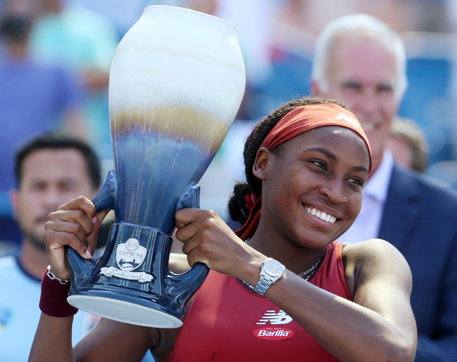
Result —
[[427, 143], [424, 132], [407, 118], [395, 117], [390, 125], [387, 147], [400, 166], [421, 173], [427, 168]]

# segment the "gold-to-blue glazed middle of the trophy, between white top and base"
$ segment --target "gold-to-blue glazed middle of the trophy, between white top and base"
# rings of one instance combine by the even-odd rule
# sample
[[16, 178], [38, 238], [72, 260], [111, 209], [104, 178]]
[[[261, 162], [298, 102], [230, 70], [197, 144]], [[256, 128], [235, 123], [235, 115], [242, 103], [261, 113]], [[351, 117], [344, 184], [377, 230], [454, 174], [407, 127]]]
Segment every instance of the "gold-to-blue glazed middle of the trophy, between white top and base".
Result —
[[113, 117], [114, 167], [125, 183], [125, 194], [116, 200], [117, 220], [171, 234], [176, 202], [201, 178], [227, 132], [210, 114], [171, 105]]

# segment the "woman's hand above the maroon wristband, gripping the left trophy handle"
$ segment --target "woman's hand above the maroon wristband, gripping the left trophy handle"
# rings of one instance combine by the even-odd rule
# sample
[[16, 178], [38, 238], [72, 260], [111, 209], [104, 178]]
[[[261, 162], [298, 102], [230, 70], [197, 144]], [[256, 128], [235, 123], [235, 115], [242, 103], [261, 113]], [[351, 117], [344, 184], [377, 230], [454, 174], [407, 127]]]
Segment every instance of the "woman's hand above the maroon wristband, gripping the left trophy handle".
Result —
[[51, 270], [61, 279], [69, 279], [65, 264], [64, 246], [76, 250], [81, 257], [90, 259], [96, 248], [101, 221], [109, 210], [97, 214], [94, 204], [78, 196], [48, 215], [44, 228], [44, 241]]

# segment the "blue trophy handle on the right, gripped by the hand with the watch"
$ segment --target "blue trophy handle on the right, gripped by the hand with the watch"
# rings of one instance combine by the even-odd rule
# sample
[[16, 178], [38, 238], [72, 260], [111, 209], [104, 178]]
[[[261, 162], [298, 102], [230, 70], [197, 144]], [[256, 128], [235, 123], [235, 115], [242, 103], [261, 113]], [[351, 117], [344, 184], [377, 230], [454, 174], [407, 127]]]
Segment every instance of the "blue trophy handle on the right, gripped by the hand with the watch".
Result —
[[[198, 184], [190, 184], [181, 194], [178, 200], [176, 210], [184, 208], [198, 209], [200, 208], [200, 186]], [[182, 305], [189, 297], [200, 287], [208, 275], [209, 268], [202, 262], [197, 262], [187, 272], [182, 274], [174, 274], [168, 272], [166, 283], [166, 293], [175, 305]]]

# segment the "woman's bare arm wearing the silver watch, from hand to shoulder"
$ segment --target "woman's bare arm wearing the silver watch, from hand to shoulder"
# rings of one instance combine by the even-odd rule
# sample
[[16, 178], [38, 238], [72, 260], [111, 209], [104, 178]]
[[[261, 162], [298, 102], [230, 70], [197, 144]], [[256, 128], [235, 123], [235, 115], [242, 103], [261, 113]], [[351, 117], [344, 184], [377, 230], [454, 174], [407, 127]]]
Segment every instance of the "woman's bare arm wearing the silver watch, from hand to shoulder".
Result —
[[[176, 214], [176, 236], [186, 242], [183, 251], [191, 265], [205, 262], [220, 273], [257, 283], [265, 255], [245, 245], [211, 211], [186, 209]], [[354, 302], [288, 270], [265, 296], [342, 362], [413, 361], [417, 337], [409, 305], [408, 264], [385, 241], [347, 247], [346, 257], [353, 263]]]

